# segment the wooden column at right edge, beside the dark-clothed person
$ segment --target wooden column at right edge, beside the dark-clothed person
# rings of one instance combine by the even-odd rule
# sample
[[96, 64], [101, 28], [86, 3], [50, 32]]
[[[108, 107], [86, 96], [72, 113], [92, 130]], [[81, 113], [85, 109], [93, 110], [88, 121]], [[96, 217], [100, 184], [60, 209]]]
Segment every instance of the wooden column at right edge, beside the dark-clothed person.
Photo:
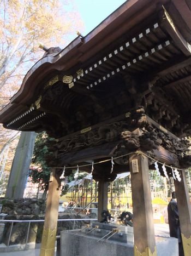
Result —
[[175, 192], [178, 204], [178, 213], [180, 217], [181, 236], [184, 248], [184, 256], [191, 255], [191, 207], [184, 171], [178, 171], [181, 181], [175, 180]]

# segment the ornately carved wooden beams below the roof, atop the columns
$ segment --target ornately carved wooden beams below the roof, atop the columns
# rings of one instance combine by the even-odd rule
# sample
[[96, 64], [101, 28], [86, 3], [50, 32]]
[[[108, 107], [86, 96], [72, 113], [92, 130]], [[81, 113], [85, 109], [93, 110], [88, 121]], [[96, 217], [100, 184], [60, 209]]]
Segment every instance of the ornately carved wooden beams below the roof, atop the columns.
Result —
[[[126, 117], [126, 120], [105, 124], [96, 129], [88, 129], [85, 133], [59, 141], [53, 149], [53, 151], [56, 150], [56, 158], [59, 158], [62, 164], [93, 160], [100, 157], [97, 152], [98, 147], [103, 149], [102, 156], [106, 157], [104, 147], [111, 144], [114, 149], [113, 157], [141, 150], [173, 166], [178, 167], [178, 162], [180, 166], [190, 164], [190, 158], [186, 156], [190, 146], [189, 141], [171, 136], [171, 133], [168, 133], [162, 126], [155, 127], [148, 120], [142, 106], [128, 112]], [[128, 157], [125, 156], [117, 158], [115, 162], [120, 165], [129, 164]], [[153, 161], [150, 161], [151, 164]]]

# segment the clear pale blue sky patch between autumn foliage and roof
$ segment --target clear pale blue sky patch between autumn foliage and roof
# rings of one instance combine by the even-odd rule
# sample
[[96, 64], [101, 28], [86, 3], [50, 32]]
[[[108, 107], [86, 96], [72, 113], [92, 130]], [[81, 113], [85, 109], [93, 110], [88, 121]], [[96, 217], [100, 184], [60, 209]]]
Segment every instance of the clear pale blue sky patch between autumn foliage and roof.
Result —
[[82, 35], [86, 36], [124, 2], [126, 0], [74, 0], [85, 24], [85, 31], [80, 31]]

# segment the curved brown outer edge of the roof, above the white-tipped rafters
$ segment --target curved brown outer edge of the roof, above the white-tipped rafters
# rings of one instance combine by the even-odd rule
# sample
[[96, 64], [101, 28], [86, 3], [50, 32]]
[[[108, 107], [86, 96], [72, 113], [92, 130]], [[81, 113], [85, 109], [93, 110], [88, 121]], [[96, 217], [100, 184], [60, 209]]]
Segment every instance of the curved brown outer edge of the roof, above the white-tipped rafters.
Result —
[[[186, 3], [187, 0], [181, 1]], [[151, 16], [156, 10], [157, 4], [162, 5], [169, 2], [171, 3], [170, 0], [129, 0], [109, 15], [87, 36], [77, 37], [58, 54], [48, 55], [40, 59], [27, 72], [20, 90], [11, 98], [10, 103], [0, 111], [0, 122], [7, 122], [14, 116], [15, 110], [19, 112], [25, 108], [39, 82], [50, 72], [57, 70], [67, 72], [66, 74], [70, 75], [69, 70], [72, 67], [87, 61], [111, 43], [111, 40], [117, 39], [129, 29], [132, 29], [133, 26], [140, 24], [142, 20]], [[184, 8], [188, 9], [188, 6], [183, 4], [181, 12]]]

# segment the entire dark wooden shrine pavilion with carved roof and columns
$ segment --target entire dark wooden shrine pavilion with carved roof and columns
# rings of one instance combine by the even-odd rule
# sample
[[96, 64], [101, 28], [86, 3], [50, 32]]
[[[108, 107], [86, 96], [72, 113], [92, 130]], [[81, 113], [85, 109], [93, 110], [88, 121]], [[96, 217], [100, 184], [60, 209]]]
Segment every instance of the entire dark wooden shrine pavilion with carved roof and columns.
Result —
[[190, 0], [129, 0], [64, 49], [44, 47], [0, 112], [4, 128], [57, 139], [41, 256], [54, 253], [63, 169], [65, 176], [77, 166], [91, 173], [92, 162], [98, 221], [109, 181], [131, 174], [134, 255], [157, 255], [148, 170], [157, 164], [160, 175], [173, 177], [184, 255], [191, 255], [190, 44]]

